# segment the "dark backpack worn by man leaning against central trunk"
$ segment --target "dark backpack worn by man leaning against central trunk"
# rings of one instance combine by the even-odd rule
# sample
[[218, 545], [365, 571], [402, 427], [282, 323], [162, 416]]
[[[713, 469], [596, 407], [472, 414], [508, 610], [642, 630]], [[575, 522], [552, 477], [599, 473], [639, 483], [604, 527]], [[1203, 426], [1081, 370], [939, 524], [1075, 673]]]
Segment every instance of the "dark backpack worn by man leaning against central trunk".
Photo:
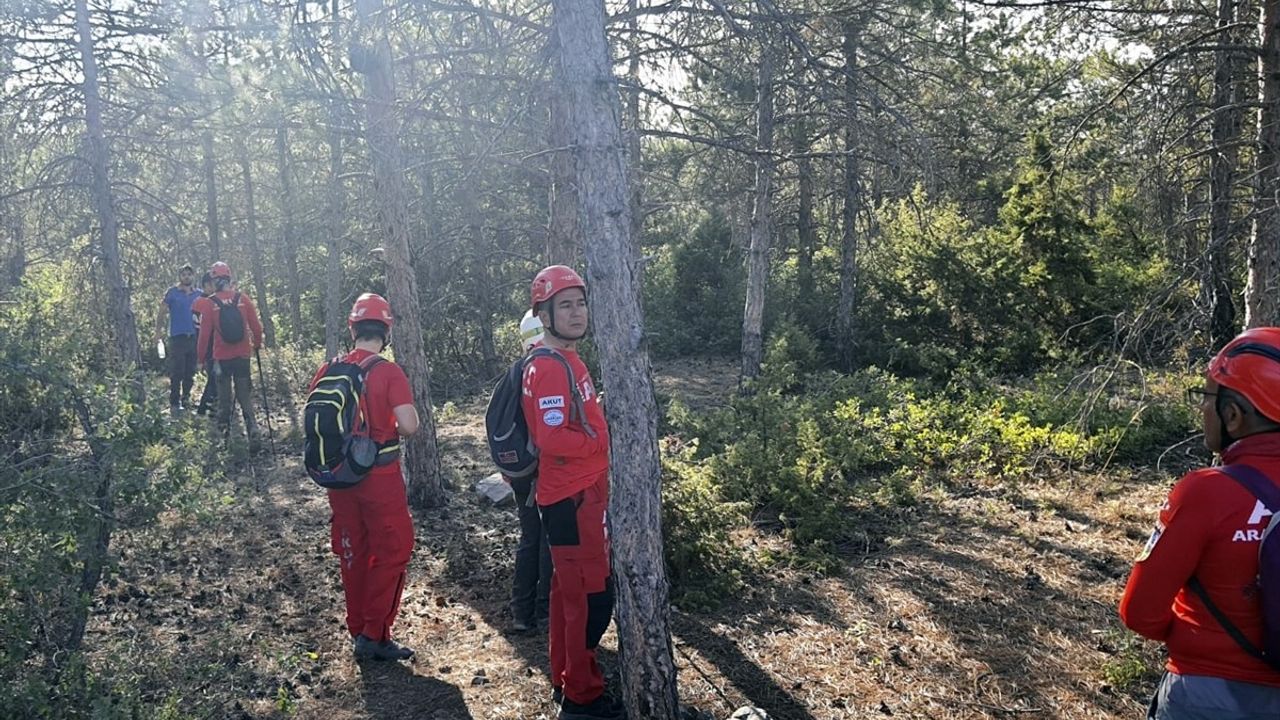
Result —
[[[529, 438], [529, 423], [521, 409], [520, 398], [524, 396], [525, 365], [534, 357], [554, 357], [568, 373], [568, 387], [572, 395], [570, 404], [570, 420], [579, 420], [586, 434], [595, 437], [595, 430], [586, 421], [586, 413], [582, 410], [582, 393], [577, 388], [573, 378], [573, 368], [563, 355], [549, 347], [538, 347], [532, 352], [516, 360], [507, 373], [498, 380], [489, 396], [489, 407], [484, 414], [485, 439], [489, 443], [489, 456], [493, 457], [498, 471], [511, 479], [527, 478], [538, 471], [538, 448]], [[530, 493], [532, 498], [532, 493]]]

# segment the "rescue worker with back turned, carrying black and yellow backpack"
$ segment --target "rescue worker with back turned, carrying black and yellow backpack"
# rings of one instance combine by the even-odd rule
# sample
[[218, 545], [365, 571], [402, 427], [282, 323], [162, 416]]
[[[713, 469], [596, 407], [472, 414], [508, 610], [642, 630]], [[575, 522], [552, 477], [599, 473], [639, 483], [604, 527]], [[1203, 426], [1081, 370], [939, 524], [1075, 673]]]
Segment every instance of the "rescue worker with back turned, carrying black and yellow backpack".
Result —
[[[343, 360], [361, 364], [380, 354], [389, 342], [392, 324], [387, 300], [371, 292], [361, 295], [347, 318], [355, 347]], [[324, 372], [324, 366], [316, 372], [312, 388]], [[369, 437], [383, 447], [417, 432], [408, 377], [392, 361], [370, 368], [361, 410], [369, 423]], [[332, 548], [342, 562], [347, 632], [356, 659], [408, 660], [413, 651], [392, 639], [413, 552], [413, 519], [408, 514], [401, 464], [378, 465], [360, 484], [330, 489], [329, 507]]]

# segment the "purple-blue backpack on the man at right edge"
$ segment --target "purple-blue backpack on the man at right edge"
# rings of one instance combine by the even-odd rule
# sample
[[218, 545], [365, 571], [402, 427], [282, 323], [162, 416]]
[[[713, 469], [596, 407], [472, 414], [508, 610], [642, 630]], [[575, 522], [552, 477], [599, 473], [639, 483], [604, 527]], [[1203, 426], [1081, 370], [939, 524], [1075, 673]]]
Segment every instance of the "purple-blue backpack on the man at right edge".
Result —
[[1271, 519], [1262, 530], [1258, 543], [1258, 600], [1262, 606], [1262, 647], [1254, 646], [1244, 637], [1222, 611], [1208, 598], [1208, 592], [1194, 577], [1187, 588], [1201, 598], [1210, 615], [1231, 635], [1231, 639], [1244, 652], [1280, 670], [1280, 488], [1267, 479], [1258, 469], [1248, 465], [1224, 465], [1219, 468], [1224, 475], [1244, 486], [1253, 497], [1271, 511]]

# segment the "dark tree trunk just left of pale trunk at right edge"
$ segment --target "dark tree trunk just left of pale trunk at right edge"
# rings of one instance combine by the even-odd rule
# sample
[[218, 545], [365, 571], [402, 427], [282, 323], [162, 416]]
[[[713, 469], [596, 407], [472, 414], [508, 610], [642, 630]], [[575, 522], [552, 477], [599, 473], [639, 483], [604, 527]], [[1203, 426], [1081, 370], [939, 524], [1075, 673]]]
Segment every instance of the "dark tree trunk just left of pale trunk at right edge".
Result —
[[[1219, 0], [1217, 26], [1235, 22], [1238, 0]], [[1238, 33], [1222, 38], [1226, 44]], [[1242, 45], [1243, 45], [1242, 38]], [[1240, 135], [1240, 106], [1236, 92], [1238, 51], [1220, 49], [1213, 53], [1213, 126], [1210, 155], [1210, 220], [1208, 246], [1201, 270], [1201, 296], [1210, 311], [1210, 345], [1222, 347], [1235, 334], [1235, 301], [1230, 282], [1231, 195], [1235, 184], [1236, 141]]]

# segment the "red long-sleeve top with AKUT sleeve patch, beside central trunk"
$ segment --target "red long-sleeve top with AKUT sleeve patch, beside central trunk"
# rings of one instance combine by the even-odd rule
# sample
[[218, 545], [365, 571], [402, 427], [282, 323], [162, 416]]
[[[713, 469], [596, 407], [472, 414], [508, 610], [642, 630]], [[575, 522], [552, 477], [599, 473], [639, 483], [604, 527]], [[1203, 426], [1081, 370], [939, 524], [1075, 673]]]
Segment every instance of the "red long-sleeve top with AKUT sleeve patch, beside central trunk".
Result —
[[609, 428], [591, 375], [572, 350], [558, 350], [582, 395], [582, 410], [595, 437], [571, 418], [568, 373], [554, 357], [535, 356], [525, 365], [521, 407], [538, 448], [538, 503], [553, 505], [586, 489], [609, 471]]

